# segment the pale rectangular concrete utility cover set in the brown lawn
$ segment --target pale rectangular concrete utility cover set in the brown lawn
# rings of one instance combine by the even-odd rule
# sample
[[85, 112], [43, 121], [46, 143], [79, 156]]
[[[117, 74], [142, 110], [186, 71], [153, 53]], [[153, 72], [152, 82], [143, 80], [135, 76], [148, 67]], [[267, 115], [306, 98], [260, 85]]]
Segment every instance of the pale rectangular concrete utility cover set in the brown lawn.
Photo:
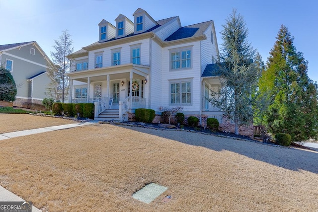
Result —
[[133, 194], [133, 198], [136, 200], [139, 200], [144, 203], [151, 203], [154, 201], [157, 197], [160, 196], [163, 192], [165, 192], [168, 188], [164, 186], [160, 186], [156, 183], [151, 183]]

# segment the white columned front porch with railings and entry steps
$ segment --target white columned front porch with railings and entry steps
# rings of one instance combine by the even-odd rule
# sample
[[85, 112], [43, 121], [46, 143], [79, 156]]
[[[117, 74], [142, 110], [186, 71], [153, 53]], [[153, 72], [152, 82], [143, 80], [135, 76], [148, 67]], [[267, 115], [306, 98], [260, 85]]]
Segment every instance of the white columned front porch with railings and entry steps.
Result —
[[71, 72], [69, 102], [93, 103], [94, 119], [123, 121], [128, 112], [148, 107], [149, 69], [129, 64]]

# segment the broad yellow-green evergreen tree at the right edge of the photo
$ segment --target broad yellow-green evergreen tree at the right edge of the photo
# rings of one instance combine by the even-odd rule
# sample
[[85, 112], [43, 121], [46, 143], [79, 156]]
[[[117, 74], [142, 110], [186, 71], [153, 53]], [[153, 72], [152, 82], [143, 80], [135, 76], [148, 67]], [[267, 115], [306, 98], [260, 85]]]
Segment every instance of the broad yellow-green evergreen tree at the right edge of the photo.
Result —
[[317, 136], [317, 84], [307, 75], [308, 61], [293, 45], [294, 37], [280, 27], [259, 80], [259, 91], [272, 102], [263, 113], [264, 122], [273, 134], [287, 133], [292, 141]]

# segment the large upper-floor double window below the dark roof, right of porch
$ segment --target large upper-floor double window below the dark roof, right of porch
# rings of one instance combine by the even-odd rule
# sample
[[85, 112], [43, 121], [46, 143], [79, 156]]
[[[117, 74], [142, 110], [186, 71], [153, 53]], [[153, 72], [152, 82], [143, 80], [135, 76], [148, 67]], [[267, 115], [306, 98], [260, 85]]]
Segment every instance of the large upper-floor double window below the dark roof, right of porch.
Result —
[[171, 70], [191, 68], [191, 50], [171, 52]]

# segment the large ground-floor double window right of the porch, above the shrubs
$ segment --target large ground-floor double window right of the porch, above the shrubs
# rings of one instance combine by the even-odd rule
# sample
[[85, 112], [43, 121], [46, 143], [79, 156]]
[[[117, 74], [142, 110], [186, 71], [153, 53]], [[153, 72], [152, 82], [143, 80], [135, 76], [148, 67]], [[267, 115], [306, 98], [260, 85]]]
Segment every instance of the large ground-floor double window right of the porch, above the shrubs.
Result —
[[182, 80], [170, 83], [170, 102], [169, 105], [191, 105], [191, 81]]

